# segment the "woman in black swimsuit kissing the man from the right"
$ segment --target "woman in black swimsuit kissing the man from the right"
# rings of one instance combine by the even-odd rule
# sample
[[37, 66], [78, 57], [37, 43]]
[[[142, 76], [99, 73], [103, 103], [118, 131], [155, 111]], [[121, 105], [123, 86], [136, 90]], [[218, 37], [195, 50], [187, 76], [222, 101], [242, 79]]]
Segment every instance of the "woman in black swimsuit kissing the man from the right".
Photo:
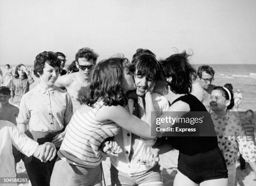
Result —
[[176, 127], [186, 128], [186, 126], [196, 129], [196, 133], [176, 132], [172, 133], [174, 136], [168, 137], [172, 146], [179, 150], [178, 173], [174, 179], [174, 186], [197, 186], [198, 184], [227, 186], [228, 171], [223, 154], [218, 147], [210, 113], [195, 96], [190, 94], [192, 77], [195, 77], [196, 72], [189, 64], [187, 57], [188, 55], [184, 52], [160, 61], [169, 89], [166, 98], [172, 103], [169, 112], [160, 117], [191, 119], [199, 117], [200, 114], [204, 116], [202, 123], [161, 122], [159, 125], [161, 129], [171, 127], [174, 131]]

